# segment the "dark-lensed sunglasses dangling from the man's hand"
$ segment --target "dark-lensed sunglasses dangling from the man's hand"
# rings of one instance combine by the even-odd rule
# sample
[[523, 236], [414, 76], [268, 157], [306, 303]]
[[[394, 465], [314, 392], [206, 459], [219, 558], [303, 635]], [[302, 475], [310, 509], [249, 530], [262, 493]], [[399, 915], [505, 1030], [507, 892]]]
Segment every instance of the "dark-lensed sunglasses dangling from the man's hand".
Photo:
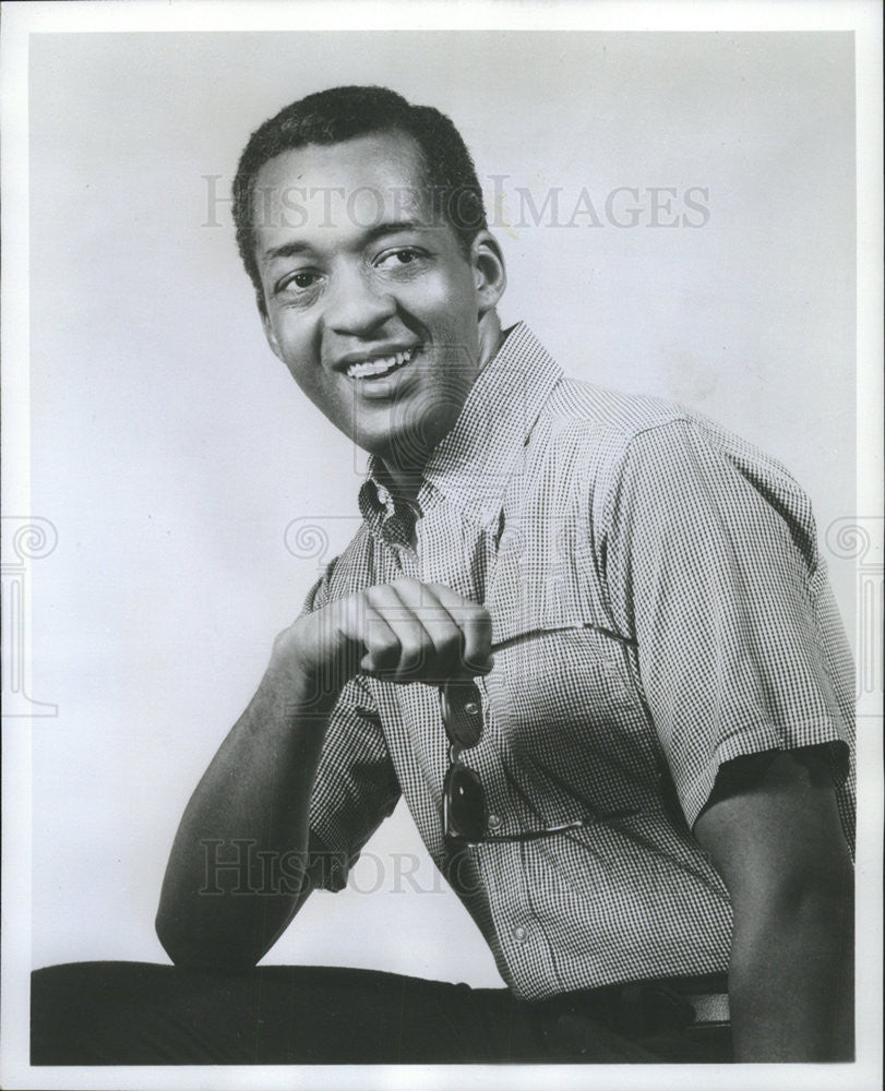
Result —
[[638, 808], [626, 807], [595, 812], [589, 818], [577, 818], [542, 829], [519, 834], [488, 834], [486, 790], [477, 774], [466, 766], [461, 755], [477, 745], [482, 736], [482, 695], [470, 680], [446, 682], [440, 687], [440, 710], [449, 739], [449, 769], [443, 781], [443, 829], [451, 847], [476, 844], [480, 841], [531, 841], [551, 834], [581, 829], [600, 818], [627, 818]]

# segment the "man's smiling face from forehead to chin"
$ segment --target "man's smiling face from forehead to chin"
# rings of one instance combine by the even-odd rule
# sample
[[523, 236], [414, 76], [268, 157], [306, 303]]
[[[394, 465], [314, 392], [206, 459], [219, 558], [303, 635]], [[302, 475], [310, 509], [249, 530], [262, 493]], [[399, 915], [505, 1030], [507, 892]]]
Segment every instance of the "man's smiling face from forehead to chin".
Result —
[[480, 365], [479, 263], [423, 184], [411, 139], [379, 133], [286, 152], [255, 185], [271, 347], [333, 424], [403, 468], [451, 429]]

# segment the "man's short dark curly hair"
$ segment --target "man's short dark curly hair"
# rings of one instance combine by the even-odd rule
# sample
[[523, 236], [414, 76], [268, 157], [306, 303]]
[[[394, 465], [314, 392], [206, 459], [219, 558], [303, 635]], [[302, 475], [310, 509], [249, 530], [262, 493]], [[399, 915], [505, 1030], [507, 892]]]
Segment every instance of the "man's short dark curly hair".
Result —
[[284, 107], [249, 137], [234, 179], [237, 245], [259, 301], [264, 291], [255, 259], [252, 205], [265, 163], [308, 144], [339, 144], [356, 136], [399, 132], [418, 146], [434, 209], [449, 221], [465, 254], [488, 227], [476, 167], [451, 119], [432, 106], [412, 106], [387, 87], [330, 87]]

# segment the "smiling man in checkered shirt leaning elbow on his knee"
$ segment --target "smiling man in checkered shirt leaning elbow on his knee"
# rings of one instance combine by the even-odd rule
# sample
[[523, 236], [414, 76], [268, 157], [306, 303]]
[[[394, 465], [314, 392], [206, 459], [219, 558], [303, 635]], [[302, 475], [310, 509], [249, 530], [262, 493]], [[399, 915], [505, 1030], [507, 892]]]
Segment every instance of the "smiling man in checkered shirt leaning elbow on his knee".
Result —
[[[436, 110], [287, 107], [235, 217], [272, 350], [372, 456], [363, 521], [181, 820], [175, 967], [38, 971], [34, 1059], [849, 1057], [853, 686], [793, 479], [501, 329]], [[507, 987], [255, 970], [400, 795]]]

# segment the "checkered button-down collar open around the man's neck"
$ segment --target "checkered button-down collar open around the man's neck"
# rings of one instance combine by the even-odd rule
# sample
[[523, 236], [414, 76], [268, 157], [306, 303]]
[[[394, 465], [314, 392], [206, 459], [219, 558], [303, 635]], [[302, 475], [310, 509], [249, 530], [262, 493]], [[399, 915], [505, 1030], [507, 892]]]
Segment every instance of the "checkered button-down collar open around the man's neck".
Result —
[[[433, 451], [417, 497], [419, 509], [441, 493], [483, 525], [498, 518], [504, 485], [562, 370], [528, 326], [514, 326], [479, 373], [454, 428]], [[360, 490], [363, 518], [394, 514], [380, 463], [372, 457]]]

